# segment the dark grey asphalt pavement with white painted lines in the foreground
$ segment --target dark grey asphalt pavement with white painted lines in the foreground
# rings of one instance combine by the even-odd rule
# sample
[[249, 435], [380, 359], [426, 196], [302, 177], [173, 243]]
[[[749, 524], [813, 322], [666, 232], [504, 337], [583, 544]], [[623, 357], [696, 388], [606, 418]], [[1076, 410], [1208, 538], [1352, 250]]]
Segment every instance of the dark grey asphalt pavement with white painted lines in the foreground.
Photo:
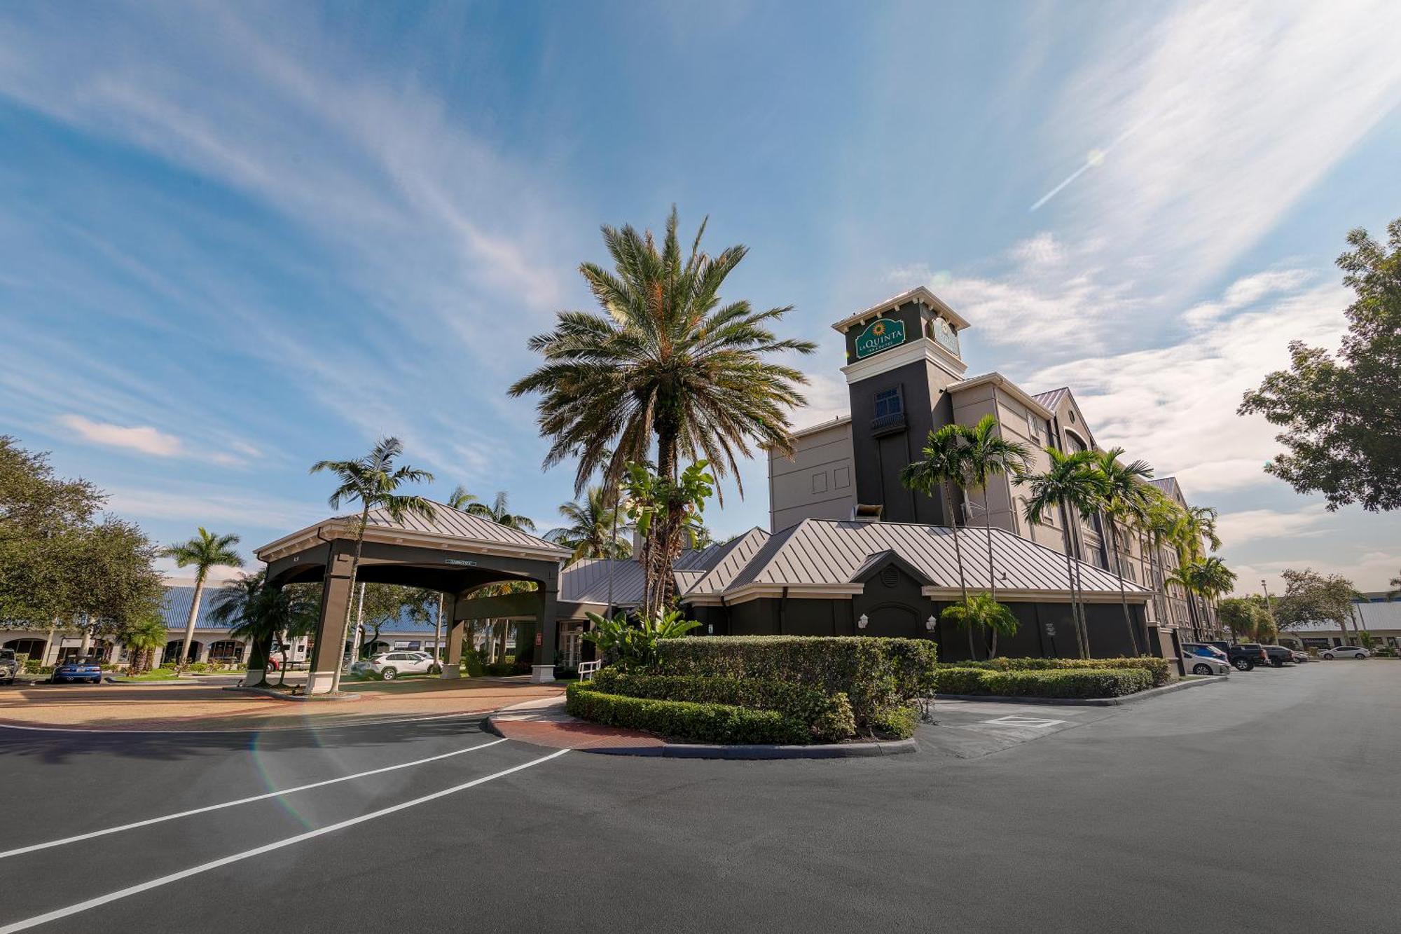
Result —
[[1401, 865], [1398, 715], [1370, 661], [940, 705], [884, 759], [556, 752], [475, 715], [0, 729], [0, 934], [1395, 931], [1388, 893], [1327, 892]]

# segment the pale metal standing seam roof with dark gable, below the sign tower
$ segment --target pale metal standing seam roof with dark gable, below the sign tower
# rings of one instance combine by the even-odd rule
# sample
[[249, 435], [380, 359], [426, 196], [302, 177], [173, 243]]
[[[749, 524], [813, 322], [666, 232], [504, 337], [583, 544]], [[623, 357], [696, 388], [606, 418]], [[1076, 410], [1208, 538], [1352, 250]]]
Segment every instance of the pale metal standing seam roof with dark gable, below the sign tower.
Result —
[[[969, 588], [988, 589], [992, 574], [988, 565], [986, 529], [953, 529], [897, 522], [832, 522], [804, 519], [771, 539], [743, 574], [727, 589], [751, 583], [775, 586], [814, 586], [850, 583], [871, 555], [892, 551], [918, 568], [929, 586], [957, 588], [958, 555], [954, 534], [962, 551], [964, 578]], [[1012, 534], [992, 530], [993, 562], [999, 589], [1066, 589], [1065, 555]], [[1118, 593], [1119, 578], [1093, 564], [1079, 562], [1083, 589], [1089, 593]], [[1146, 589], [1124, 582], [1131, 593]]]

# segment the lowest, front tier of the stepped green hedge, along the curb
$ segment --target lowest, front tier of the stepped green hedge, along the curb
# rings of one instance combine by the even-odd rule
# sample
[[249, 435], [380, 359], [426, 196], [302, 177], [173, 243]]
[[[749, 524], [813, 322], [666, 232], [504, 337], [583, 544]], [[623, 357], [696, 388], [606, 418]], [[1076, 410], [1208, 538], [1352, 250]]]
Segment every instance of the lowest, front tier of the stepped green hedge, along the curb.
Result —
[[570, 684], [565, 698], [565, 710], [580, 719], [702, 743], [811, 742], [807, 724], [773, 710], [623, 697], [593, 690], [591, 683]]

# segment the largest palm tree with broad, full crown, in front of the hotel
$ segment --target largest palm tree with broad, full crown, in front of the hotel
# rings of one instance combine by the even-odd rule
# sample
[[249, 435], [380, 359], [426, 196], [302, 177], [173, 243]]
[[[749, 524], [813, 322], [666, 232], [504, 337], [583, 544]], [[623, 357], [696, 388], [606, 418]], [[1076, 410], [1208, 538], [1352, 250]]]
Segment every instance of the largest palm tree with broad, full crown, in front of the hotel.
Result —
[[[538, 393], [539, 431], [551, 439], [545, 467], [576, 459], [574, 494], [597, 471], [616, 489], [626, 464], [651, 460], [657, 474], [677, 482], [682, 457], [709, 460], [720, 477], [736, 474], [751, 442], [792, 453], [787, 411], [804, 404], [807, 377], [769, 362], [775, 353], [811, 353], [811, 341], [779, 339], [769, 325], [789, 307], [755, 311], [748, 302], [720, 299], [726, 276], [744, 259], [736, 245], [710, 257], [700, 251], [705, 222], [689, 254], [677, 237], [677, 210], [663, 241], [630, 226], [605, 226], [604, 244], [614, 269], [586, 262], [579, 271], [602, 309], [562, 311], [555, 330], [530, 341], [545, 358], [511, 386], [511, 395]], [[682, 509], [668, 510], [647, 539], [660, 551], [647, 574], [670, 599], [670, 569], [681, 550]]]

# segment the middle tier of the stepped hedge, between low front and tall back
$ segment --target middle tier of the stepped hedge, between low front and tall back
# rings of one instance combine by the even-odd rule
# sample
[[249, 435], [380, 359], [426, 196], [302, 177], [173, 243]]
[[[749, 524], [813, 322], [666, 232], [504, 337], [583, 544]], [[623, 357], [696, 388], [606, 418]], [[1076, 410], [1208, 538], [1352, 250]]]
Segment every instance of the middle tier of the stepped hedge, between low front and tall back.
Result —
[[588, 686], [625, 697], [775, 710], [806, 724], [817, 742], [838, 742], [856, 733], [856, 718], [846, 694], [824, 694], [789, 682], [705, 675], [623, 675], [605, 668]]

